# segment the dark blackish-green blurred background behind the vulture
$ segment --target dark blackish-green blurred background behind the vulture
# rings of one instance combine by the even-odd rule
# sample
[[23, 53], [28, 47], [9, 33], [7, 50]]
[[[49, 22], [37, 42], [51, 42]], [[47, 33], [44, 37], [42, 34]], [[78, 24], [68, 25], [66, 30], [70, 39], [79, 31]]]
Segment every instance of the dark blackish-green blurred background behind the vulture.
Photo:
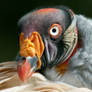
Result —
[[40, 6], [65, 5], [75, 13], [92, 17], [92, 0], [1, 0], [0, 62], [13, 60], [18, 51], [17, 21]]

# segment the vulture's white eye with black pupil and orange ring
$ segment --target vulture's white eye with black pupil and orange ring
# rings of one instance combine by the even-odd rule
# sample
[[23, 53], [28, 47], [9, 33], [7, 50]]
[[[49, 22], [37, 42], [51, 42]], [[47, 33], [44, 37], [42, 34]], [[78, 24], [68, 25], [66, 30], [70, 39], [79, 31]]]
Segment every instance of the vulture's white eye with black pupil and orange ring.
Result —
[[49, 29], [49, 35], [51, 38], [59, 38], [62, 33], [62, 27], [59, 24], [53, 24], [51, 25]]

